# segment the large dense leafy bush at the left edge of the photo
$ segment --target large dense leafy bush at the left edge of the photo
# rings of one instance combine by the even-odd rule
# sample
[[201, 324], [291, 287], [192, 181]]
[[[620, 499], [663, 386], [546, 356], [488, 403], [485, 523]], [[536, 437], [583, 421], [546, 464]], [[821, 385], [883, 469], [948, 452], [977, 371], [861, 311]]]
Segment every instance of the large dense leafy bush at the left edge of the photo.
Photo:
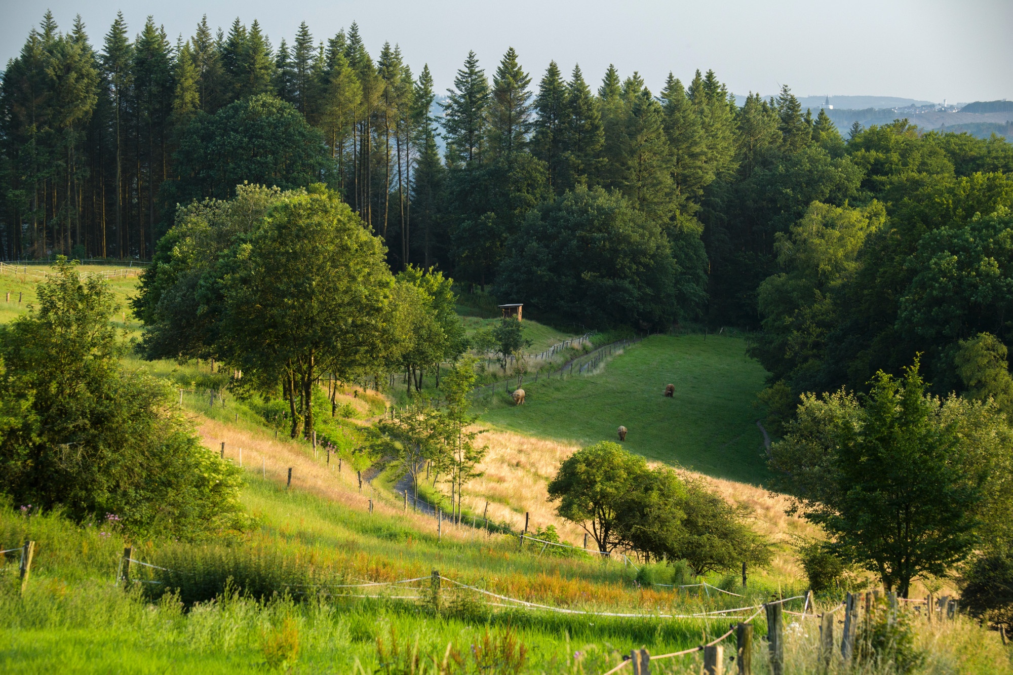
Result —
[[79, 523], [193, 538], [244, 525], [241, 473], [205, 448], [164, 381], [120, 365], [108, 285], [65, 259], [0, 328], [0, 491]]

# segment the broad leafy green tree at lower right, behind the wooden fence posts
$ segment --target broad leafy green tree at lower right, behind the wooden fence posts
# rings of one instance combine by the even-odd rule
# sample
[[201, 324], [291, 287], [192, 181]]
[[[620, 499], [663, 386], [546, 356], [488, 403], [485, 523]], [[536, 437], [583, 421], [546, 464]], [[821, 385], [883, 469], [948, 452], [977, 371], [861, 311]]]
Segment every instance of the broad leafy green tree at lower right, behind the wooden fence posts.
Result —
[[836, 553], [907, 597], [913, 579], [945, 574], [978, 542], [992, 462], [978, 461], [962, 418], [928, 394], [916, 362], [900, 378], [880, 372], [861, 398], [804, 396], [771, 465]]

